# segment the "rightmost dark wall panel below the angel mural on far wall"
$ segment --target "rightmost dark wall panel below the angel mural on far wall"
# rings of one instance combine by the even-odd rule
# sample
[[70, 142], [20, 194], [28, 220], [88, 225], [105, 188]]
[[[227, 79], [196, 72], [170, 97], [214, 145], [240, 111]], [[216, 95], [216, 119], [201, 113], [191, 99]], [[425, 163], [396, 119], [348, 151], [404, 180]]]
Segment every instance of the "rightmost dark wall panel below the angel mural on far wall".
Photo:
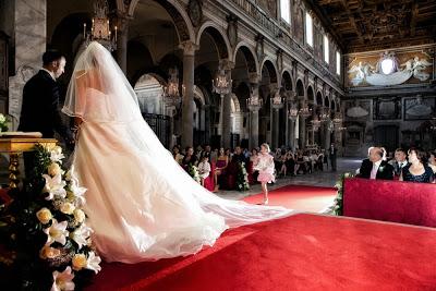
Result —
[[404, 98], [404, 120], [436, 118], [436, 98]]

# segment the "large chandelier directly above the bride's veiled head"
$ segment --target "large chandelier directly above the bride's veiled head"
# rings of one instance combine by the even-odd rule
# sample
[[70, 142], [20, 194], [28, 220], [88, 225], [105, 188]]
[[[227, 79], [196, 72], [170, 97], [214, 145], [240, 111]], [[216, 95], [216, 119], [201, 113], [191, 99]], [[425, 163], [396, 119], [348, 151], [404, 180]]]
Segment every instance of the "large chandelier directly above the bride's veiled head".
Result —
[[118, 28], [114, 26], [114, 36], [110, 31], [109, 25], [109, 5], [106, 0], [94, 1], [94, 17], [92, 21], [90, 32], [86, 31], [86, 23], [83, 24], [83, 38], [85, 44], [90, 41], [98, 41], [109, 51], [117, 49], [117, 33]]

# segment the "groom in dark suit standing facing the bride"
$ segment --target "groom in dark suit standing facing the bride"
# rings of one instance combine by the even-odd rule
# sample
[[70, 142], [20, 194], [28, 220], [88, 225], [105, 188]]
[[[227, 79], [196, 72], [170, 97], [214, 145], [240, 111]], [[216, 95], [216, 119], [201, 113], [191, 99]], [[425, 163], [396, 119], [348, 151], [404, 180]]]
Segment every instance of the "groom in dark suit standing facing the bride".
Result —
[[[43, 69], [24, 85], [23, 105], [19, 131], [40, 132], [44, 138], [52, 138], [58, 132], [66, 145], [74, 143], [73, 135], [62, 122], [59, 110], [60, 89], [56, 80], [62, 75], [65, 58], [58, 51], [43, 54]], [[26, 174], [33, 168], [34, 156], [24, 153]]]

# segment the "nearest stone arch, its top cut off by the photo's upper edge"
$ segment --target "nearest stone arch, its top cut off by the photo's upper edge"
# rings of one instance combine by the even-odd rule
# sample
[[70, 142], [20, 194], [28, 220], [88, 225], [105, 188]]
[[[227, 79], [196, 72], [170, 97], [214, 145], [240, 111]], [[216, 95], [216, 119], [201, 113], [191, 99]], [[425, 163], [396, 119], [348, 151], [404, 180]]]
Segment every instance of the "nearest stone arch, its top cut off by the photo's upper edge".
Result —
[[[129, 16], [133, 16], [136, 5], [141, 0], [132, 0], [130, 2], [128, 10], [125, 11], [123, 0], [117, 0], [117, 7], [120, 11], [126, 12]], [[179, 36], [179, 41], [194, 41], [195, 33], [194, 27], [192, 26], [190, 16], [187, 15], [184, 7], [179, 3], [177, 0], [153, 0], [159, 3], [170, 15], [172, 23], [175, 26], [175, 31]]]

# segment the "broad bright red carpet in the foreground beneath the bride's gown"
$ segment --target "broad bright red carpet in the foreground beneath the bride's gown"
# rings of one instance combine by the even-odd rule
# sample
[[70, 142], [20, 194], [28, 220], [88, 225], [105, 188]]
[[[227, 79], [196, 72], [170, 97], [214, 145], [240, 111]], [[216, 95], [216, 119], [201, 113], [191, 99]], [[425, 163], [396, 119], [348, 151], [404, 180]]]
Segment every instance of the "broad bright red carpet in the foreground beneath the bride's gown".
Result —
[[106, 264], [88, 290], [435, 290], [436, 230], [301, 214], [195, 256]]

